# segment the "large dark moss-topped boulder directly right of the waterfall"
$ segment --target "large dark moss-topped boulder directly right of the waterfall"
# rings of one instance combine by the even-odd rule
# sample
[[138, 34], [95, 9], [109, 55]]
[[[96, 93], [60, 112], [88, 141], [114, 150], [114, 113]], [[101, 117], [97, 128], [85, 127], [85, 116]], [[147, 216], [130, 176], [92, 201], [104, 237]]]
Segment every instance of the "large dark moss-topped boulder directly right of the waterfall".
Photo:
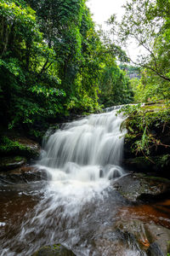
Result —
[[169, 113], [165, 102], [150, 102], [128, 109], [127, 119], [122, 124], [127, 129], [123, 149], [123, 165], [127, 170], [156, 172], [156, 175], [170, 178]]

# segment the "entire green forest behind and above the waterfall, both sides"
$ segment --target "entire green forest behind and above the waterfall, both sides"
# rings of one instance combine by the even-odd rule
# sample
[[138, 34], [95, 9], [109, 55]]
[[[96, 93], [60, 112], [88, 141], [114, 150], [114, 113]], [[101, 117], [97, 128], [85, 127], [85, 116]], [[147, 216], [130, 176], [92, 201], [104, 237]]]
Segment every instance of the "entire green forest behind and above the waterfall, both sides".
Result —
[[[121, 23], [111, 16], [108, 37], [96, 29], [84, 0], [1, 0], [3, 127], [37, 135], [38, 127], [71, 113], [168, 100], [170, 3], [131, 2]], [[128, 38], [147, 51], [134, 63], [122, 50]], [[127, 69], [139, 77], [129, 79]]]

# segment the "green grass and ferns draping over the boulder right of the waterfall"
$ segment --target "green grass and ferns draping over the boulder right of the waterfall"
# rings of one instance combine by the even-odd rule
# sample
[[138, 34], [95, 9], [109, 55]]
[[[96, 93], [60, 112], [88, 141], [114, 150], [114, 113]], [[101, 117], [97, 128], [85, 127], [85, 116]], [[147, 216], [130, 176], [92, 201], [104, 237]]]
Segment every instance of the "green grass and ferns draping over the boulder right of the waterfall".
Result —
[[170, 102], [127, 105], [118, 113], [127, 116], [122, 127], [128, 131], [127, 141], [135, 154], [148, 156], [155, 154], [157, 148], [161, 148], [161, 152], [167, 148], [169, 152], [170, 145], [166, 141], [170, 136]]

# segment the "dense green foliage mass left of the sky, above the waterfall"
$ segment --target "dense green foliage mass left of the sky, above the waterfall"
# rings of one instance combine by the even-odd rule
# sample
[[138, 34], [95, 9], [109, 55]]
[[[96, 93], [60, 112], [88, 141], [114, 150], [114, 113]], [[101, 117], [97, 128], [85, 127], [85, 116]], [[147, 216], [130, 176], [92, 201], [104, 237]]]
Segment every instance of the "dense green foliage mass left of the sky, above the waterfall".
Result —
[[95, 31], [84, 0], [1, 0], [3, 125], [30, 129], [71, 112], [130, 102], [116, 56], [127, 61]]

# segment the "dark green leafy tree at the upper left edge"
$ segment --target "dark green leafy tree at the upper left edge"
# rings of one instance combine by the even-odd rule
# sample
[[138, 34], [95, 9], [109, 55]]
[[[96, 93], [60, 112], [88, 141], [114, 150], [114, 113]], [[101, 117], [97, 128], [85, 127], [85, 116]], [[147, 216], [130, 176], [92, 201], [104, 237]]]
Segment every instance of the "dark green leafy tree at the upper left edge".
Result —
[[10, 128], [43, 123], [60, 111], [65, 96], [59, 90], [54, 49], [48, 48], [30, 7], [2, 0], [0, 20], [1, 115], [6, 113]]

